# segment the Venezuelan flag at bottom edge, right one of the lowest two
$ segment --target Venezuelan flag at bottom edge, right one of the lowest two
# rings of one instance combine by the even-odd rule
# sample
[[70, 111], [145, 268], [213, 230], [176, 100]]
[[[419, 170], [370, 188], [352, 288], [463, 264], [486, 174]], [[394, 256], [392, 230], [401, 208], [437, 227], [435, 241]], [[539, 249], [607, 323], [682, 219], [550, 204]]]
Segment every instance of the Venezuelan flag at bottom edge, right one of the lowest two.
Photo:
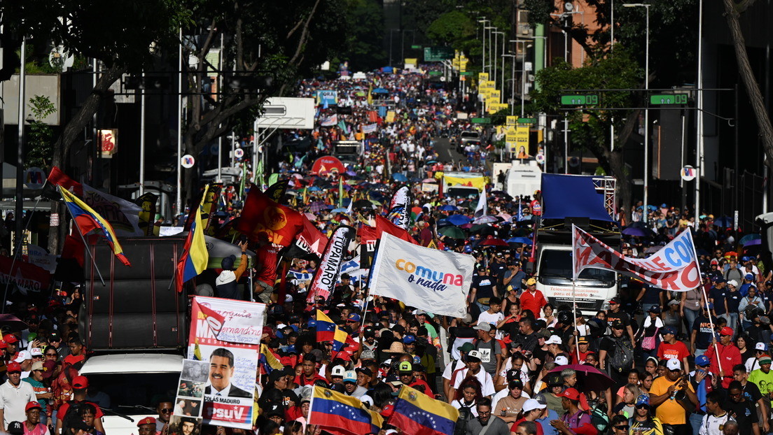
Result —
[[453, 435], [459, 411], [410, 386], [400, 388], [387, 423], [405, 435]]

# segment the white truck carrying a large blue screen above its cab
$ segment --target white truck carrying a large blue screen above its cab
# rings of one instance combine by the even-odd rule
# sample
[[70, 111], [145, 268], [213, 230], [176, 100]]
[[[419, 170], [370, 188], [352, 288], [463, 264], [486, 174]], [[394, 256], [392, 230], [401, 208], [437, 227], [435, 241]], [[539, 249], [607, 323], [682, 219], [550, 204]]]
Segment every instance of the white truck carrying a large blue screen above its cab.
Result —
[[[536, 288], [554, 307], [572, 304], [572, 224], [620, 249], [615, 219], [615, 179], [591, 175], [542, 174], [543, 216], [535, 223], [529, 267]], [[574, 282], [577, 308], [586, 315], [607, 309], [618, 294], [618, 274], [585, 269]]]

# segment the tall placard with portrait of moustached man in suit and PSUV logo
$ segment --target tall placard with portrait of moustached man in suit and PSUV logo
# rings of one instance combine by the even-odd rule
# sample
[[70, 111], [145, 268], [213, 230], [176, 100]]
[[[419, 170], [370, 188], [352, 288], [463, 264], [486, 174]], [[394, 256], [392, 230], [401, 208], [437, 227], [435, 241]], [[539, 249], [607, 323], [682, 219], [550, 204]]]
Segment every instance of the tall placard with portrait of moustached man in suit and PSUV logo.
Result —
[[[194, 297], [188, 358], [178, 386], [182, 415], [201, 401], [204, 424], [250, 429], [265, 304]], [[185, 384], [185, 385], [183, 385]], [[191, 394], [188, 394], [191, 393]], [[187, 402], [186, 402], [187, 401]]]

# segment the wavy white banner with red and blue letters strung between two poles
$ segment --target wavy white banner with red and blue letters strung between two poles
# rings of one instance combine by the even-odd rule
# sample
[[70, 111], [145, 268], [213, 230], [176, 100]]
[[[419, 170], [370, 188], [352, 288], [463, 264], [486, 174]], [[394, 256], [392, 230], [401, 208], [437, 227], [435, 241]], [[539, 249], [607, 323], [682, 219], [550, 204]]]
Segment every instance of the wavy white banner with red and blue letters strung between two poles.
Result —
[[669, 291], [690, 291], [700, 285], [700, 268], [690, 230], [679, 233], [652, 256], [625, 257], [591, 234], [572, 226], [574, 279], [587, 267], [611, 270]]

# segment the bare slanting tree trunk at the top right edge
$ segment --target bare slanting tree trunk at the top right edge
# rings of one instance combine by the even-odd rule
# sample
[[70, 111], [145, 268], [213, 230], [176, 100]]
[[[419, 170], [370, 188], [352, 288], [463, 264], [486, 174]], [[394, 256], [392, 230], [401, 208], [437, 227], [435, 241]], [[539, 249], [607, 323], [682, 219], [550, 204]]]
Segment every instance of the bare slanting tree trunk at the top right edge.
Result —
[[773, 165], [773, 125], [771, 125], [770, 117], [768, 117], [768, 110], [765, 110], [764, 100], [762, 100], [762, 93], [760, 92], [757, 79], [754, 77], [754, 71], [751, 69], [749, 56], [746, 53], [744, 34], [741, 32], [741, 24], [738, 22], [741, 12], [744, 12], [754, 2], [747, 0], [741, 4], [736, 4], [733, 0], [723, 1], [727, 25], [730, 27], [730, 36], [733, 38], [738, 72], [741, 73], [741, 79], [744, 80], [744, 87], [746, 87], [746, 93], [751, 101], [754, 117], [757, 119], [762, 146], [764, 147], [765, 155], [768, 157], [766, 163]]

